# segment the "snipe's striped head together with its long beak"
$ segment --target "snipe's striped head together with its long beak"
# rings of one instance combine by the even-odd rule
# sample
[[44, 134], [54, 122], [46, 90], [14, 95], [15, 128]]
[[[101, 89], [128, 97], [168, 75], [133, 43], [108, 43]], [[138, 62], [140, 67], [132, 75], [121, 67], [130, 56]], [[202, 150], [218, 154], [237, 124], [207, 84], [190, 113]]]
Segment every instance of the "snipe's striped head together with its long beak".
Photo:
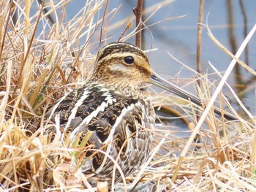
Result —
[[147, 55], [135, 45], [125, 42], [112, 42], [103, 47], [98, 54], [92, 80], [127, 90], [139, 90], [142, 83], [151, 83], [197, 105], [202, 104], [197, 96], [159, 77], [151, 69]]

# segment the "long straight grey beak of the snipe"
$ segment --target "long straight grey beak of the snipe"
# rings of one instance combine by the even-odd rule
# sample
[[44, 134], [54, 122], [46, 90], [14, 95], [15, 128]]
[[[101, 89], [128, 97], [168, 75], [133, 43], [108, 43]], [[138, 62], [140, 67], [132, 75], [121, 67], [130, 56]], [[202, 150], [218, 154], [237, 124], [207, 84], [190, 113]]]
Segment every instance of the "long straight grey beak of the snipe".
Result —
[[[183, 99], [192, 101], [192, 103], [194, 104], [202, 106], [202, 101], [197, 96], [192, 95], [191, 93], [185, 91], [182, 88], [179, 88], [177, 85], [174, 85], [171, 82], [167, 82], [167, 80], [164, 80], [162, 77], [159, 77], [159, 75], [154, 71], [151, 72], [151, 77], [149, 79], [149, 82], [151, 82], [151, 84], [153, 85], [157, 85], [159, 88], [163, 88], [166, 91], [170, 91], [170, 93], [174, 93]], [[214, 109], [214, 112], [217, 113], [218, 115], [222, 115], [222, 112], [220, 112], [217, 109]], [[227, 120], [236, 120], [236, 118], [233, 118], [227, 114], [224, 114], [224, 117]]]

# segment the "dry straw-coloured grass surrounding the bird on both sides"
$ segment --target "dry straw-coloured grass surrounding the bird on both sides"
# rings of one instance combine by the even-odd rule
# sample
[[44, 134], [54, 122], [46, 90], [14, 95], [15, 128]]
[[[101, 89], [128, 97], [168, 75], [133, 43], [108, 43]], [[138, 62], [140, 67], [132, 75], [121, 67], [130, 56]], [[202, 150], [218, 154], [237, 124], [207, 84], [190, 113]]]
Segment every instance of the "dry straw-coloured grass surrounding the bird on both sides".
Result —
[[[84, 146], [89, 136], [70, 149], [66, 147], [68, 139], [60, 144], [63, 138], [58, 125], [54, 137], [42, 134], [47, 127], [36, 129], [48, 104], [59, 99], [67, 88], [79, 86], [80, 83], [72, 82], [86, 79], [95, 58], [91, 48], [98, 45], [102, 19], [97, 16], [104, 1], [88, 3], [81, 14], [65, 21], [64, 5], [68, 2], [50, 1], [48, 14], [56, 16], [53, 26], [42, 15], [42, 9], [31, 14], [29, 1], [14, 2], [12, 7], [18, 13], [15, 27], [10, 19], [14, 8], [5, 1], [0, 3], [0, 191], [92, 190], [87, 180], [93, 175], [84, 175], [78, 169], [88, 150]], [[113, 15], [114, 11], [108, 18]], [[80, 45], [80, 39], [84, 45]], [[200, 96], [209, 101], [212, 85], [207, 76], [201, 80]], [[217, 95], [220, 106], [224, 105], [224, 96]], [[156, 105], [173, 104], [173, 97], [160, 98], [161, 95]], [[128, 188], [152, 181], [152, 191], [256, 191], [255, 118], [246, 120], [237, 115], [238, 120], [227, 122], [215, 117], [209, 107], [203, 120], [207, 128], [200, 129], [196, 128], [195, 114], [202, 109], [187, 103], [177, 105], [191, 117], [186, 120], [192, 136], [197, 135], [200, 142], [191, 142], [193, 137], [187, 142], [177, 136], [173, 127], [154, 130], [151, 158], [134, 177], [127, 178], [133, 182]], [[230, 104], [227, 107], [233, 112]]]

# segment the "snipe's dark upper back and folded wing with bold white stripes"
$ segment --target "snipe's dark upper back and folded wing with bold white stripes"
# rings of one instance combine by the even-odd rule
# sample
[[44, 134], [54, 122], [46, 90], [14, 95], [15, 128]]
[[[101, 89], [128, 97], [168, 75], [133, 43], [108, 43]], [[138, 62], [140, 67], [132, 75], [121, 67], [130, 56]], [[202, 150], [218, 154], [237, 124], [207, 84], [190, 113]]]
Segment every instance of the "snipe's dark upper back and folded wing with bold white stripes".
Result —
[[140, 126], [148, 128], [152, 123], [146, 117], [149, 114], [143, 99], [132, 99], [97, 86], [84, 86], [67, 93], [46, 112], [45, 118], [54, 122], [57, 114], [64, 131], [72, 132], [71, 139], [80, 132], [93, 131], [91, 139], [99, 145], [138, 136]]

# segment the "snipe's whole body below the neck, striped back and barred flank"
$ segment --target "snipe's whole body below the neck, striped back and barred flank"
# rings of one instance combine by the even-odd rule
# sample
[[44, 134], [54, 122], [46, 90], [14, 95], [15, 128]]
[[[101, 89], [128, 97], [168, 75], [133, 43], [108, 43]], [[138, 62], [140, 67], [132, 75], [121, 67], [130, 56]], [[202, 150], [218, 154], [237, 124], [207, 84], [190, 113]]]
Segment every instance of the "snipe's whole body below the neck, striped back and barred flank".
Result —
[[[82, 141], [91, 132], [89, 144], [95, 149], [105, 151], [114, 159], [120, 153], [117, 162], [126, 176], [148, 158], [152, 141], [148, 129], [153, 128], [155, 117], [154, 109], [142, 93], [125, 95], [98, 82], [87, 82], [56, 101], [45, 118], [54, 123], [57, 114], [71, 142], [78, 134], [82, 133]], [[98, 177], [110, 179], [113, 165], [107, 155], [97, 153], [91, 164], [83, 168], [91, 166]], [[120, 179], [120, 174], [116, 172], [115, 177]]]

